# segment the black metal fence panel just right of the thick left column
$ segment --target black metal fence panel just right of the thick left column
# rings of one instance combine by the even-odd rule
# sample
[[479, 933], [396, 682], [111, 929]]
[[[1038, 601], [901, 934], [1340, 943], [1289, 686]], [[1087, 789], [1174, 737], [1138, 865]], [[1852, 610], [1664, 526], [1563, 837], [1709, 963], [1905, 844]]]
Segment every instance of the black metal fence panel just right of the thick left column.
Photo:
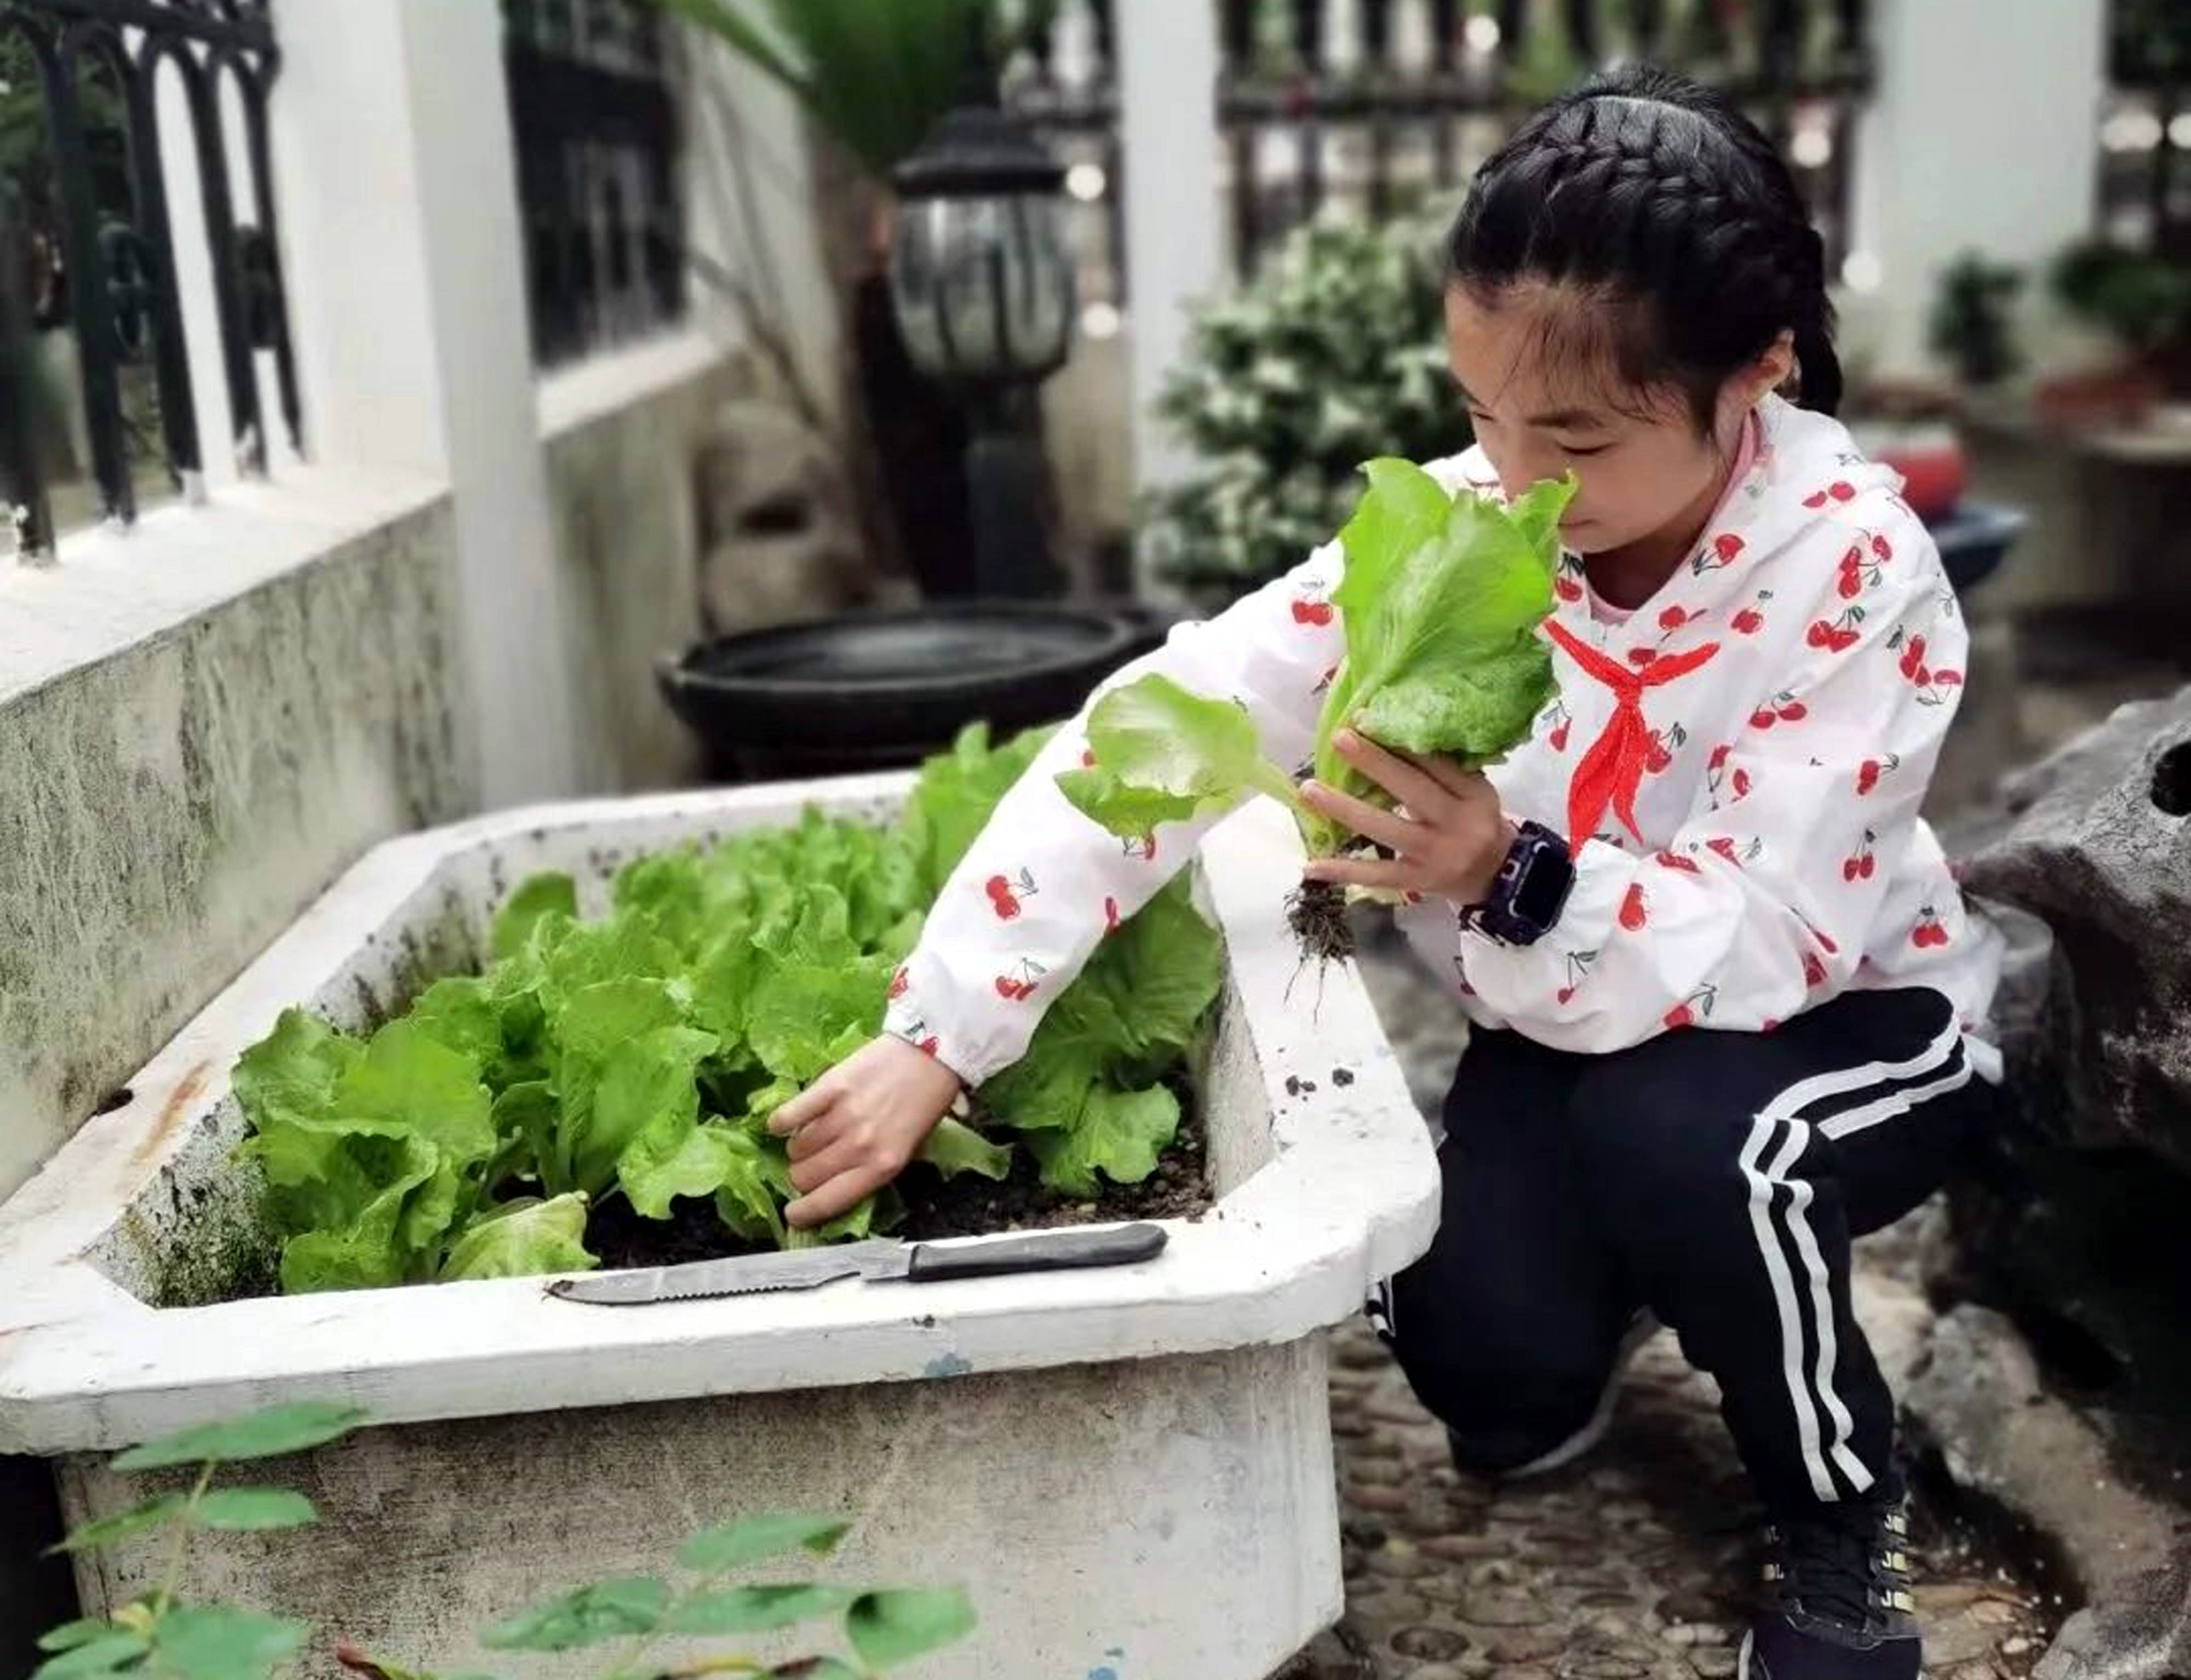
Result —
[[677, 31], [644, 0], [504, 0], [532, 353], [684, 313]]

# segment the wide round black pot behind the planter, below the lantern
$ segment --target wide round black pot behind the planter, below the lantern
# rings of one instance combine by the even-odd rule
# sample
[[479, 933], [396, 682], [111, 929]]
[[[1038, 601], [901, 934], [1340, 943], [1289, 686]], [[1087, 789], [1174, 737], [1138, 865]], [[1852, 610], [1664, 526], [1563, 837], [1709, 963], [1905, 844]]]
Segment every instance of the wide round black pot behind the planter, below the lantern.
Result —
[[933, 602], [701, 642], [662, 661], [662, 694], [730, 782], [898, 769], [986, 718], [1003, 740], [1080, 710], [1163, 640], [1146, 602]]

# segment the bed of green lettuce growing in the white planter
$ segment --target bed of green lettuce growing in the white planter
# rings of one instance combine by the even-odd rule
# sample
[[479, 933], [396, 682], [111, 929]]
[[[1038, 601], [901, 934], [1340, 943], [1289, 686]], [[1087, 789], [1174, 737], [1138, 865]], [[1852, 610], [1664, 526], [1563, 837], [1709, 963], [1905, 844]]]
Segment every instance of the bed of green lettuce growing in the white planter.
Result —
[[[598, 920], [578, 920], [570, 876], [535, 876], [500, 909], [484, 973], [368, 1036], [285, 1012], [234, 1071], [283, 1290], [583, 1270], [600, 1235], [631, 1262], [710, 1233], [734, 1251], [901, 1227], [892, 1187], [787, 1229], [767, 1117], [876, 1032], [927, 907], [1041, 743], [968, 729], [887, 828], [808, 810], [640, 859]], [[938, 1200], [1006, 1222], [1115, 1205], [1120, 1185], [1179, 1200], [1181, 1163], [1159, 1161], [1223, 962], [1188, 891], [1181, 874], [1104, 940], [907, 1187], [940, 1176]]]

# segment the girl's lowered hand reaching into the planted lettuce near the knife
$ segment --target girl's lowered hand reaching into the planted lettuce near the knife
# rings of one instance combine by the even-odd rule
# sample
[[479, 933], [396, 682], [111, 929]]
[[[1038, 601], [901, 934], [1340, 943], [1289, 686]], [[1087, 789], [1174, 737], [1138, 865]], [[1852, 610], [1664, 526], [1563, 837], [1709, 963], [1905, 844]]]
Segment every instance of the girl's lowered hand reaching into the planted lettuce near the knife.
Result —
[[769, 1115], [791, 1139], [793, 1224], [850, 1213], [920, 1154], [957, 1100], [960, 1078], [903, 1038], [870, 1038]]

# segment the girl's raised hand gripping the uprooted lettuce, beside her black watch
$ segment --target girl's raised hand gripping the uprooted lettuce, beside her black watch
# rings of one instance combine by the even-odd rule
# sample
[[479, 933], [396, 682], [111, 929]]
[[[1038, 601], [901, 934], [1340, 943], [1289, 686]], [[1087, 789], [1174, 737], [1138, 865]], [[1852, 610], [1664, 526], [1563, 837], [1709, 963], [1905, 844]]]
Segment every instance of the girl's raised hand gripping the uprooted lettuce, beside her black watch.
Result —
[[1332, 745], [1402, 808], [1378, 810], [1321, 782], [1301, 789], [1301, 804], [1389, 845], [1398, 856], [1315, 859], [1301, 874], [1308, 881], [1442, 894], [1457, 905], [1481, 905], [1514, 845], [1514, 828], [1492, 784], [1450, 758], [1391, 753], [1354, 729], [1341, 729]]

